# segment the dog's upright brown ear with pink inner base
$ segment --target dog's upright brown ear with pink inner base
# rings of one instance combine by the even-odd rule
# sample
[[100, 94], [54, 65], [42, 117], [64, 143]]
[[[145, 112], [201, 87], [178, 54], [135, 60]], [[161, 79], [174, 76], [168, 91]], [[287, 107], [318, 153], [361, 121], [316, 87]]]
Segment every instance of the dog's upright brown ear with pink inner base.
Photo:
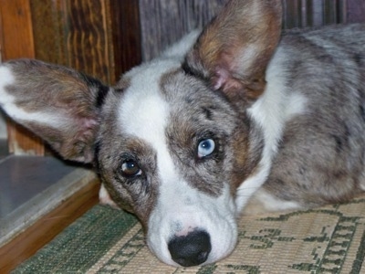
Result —
[[[280, 0], [233, 0], [205, 27], [183, 67], [228, 97], [255, 100], [280, 39]], [[239, 95], [237, 94], [240, 93]]]

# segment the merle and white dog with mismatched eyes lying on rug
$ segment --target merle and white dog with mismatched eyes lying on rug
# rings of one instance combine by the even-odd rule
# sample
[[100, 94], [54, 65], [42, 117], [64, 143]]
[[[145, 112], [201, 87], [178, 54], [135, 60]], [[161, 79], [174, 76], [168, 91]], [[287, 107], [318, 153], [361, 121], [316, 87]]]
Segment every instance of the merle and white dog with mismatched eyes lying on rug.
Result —
[[63, 158], [94, 163], [101, 198], [134, 213], [172, 266], [228, 256], [236, 218], [365, 190], [365, 26], [282, 33], [279, 0], [232, 0], [107, 87], [71, 68], [0, 67], [0, 107]]

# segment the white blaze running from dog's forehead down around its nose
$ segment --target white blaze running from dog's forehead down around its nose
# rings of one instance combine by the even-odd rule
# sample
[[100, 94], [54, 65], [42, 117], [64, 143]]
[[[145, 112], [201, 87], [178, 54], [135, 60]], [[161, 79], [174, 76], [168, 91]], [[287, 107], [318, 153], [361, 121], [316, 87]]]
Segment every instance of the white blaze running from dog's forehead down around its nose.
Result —
[[[154, 66], [153, 66], [154, 65]], [[160, 79], [173, 68], [170, 63], [152, 64], [132, 70], [119, 111], [122, 132], [142, 140], [156, 153], [158, 195], [148, 224], [148, 244], [163, 262], [172, 260], [168, 244], [172, 237], [185, 236], [195, 229], [210, 236], [212, 251], [205, 263], [227, 256], [237, 237], [235, 203], [228, 184], [222, 195], [207, 195], [187, 182], [169, 150], [166, 128], [170, 106], [160, 91]], [[129, 76], [130, 76], [129, 75]], [[175, 159], [175, 160], [174, 160]], [[189, 168], [189, 167], [186, 167]]]

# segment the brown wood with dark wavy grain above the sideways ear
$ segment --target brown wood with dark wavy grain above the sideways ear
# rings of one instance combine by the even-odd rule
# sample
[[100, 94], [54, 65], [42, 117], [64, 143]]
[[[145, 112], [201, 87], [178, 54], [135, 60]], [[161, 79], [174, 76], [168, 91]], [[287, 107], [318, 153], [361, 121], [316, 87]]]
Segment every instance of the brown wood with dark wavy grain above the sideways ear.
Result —
[[115, 80], [109, 0], [33, 0], [31, 10], [36, 58]]

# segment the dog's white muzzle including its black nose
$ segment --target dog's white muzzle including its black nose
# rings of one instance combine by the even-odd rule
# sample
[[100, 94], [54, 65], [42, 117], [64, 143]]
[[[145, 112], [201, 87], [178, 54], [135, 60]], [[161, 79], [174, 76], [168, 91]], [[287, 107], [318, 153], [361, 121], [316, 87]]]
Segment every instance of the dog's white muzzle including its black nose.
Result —
[[[222, 195], [205, 195], [189, 184], [168, 184], [151, 211], [147, 244], [162, 262], [174, 267], [203, 266], [235, 248], [235, 201], [229, 185]], [[175, 195], [174, 187], [183, 187]], [[168, 192], [167, 190], [170, 190]]]

